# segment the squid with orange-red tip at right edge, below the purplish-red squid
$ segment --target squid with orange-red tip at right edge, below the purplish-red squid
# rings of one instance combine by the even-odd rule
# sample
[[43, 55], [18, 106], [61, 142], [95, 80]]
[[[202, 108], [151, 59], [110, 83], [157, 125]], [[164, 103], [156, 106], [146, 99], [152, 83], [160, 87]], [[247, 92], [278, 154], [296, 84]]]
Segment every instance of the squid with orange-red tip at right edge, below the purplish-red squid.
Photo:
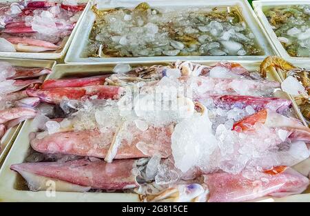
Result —
[[285, 117], [268, 109], [260, 110], [236, 122], [232, 130], [236, 130], [237, 132], [251, 132], [255, 130], [256, 124], [263, 124], [271, 129], [281, 128], [282, 130], [287, 130], [287, 138], [291, 141], [310, 142], [310, 128], [302, 125], [298, 119]]

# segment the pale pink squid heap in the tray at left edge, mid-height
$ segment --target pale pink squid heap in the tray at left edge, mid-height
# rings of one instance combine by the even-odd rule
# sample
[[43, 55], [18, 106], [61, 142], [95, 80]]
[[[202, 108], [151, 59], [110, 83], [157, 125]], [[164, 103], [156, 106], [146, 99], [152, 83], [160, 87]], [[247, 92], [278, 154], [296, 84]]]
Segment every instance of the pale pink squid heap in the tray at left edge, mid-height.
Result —
[[[0, 61], [0, 138], [8, 129], [38, 114], [39, 98], [28, 97], [26, 90], [39, 88], [50, 72], [48, 68], [24, 68]], [[0, 152], [1, 146], [2, 141]]]

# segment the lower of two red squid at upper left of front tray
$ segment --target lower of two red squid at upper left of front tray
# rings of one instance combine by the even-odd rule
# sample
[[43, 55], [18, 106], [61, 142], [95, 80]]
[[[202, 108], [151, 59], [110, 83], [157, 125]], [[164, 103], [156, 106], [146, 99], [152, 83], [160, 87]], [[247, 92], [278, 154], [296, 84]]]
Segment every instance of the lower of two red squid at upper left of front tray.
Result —
[[41, 101], [50, 104], [60, 104], [63, 100], [81, 100], [96, 97], [96, 99], [119, 99], [125, 88], [119, 86], [83, 86], [50, 89], [27, 89], [29, 97], [39, 97]]

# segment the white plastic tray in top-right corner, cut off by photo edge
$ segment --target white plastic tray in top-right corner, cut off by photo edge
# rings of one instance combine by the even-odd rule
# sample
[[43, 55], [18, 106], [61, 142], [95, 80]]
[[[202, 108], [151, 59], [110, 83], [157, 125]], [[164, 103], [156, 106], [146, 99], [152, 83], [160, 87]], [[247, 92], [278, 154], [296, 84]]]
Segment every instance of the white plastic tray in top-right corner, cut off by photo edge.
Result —
[[267, 20], [267, 17], [265, 16], [264, 12], [262, 12], [263, 7], [265, 6], [289, 6], [289, 5], [310, 5], [309, 0], [282, 0], [282, 1], [276, 1], [276, 0], [263, 0], [263, 1], [252, 1], [252, 5], [254, 8], [254, 11], [256, 12], [258, 19], [260, 20], [262, 26], [264, 27], [263, 31], [267, 37], [272, 41], [273, 47], [276, 48], [276, 54], [280, 57], [287, 59], [288, 61], [300, 61], [300, 62], [308, 62], [310, 61], [310, 57], [291, 57], [287, 50], [282, 46], [280, 41], [278, 40], [278, 37], [276, 36], [276, 33], [271, 28], [271, 25], [269, 21]]

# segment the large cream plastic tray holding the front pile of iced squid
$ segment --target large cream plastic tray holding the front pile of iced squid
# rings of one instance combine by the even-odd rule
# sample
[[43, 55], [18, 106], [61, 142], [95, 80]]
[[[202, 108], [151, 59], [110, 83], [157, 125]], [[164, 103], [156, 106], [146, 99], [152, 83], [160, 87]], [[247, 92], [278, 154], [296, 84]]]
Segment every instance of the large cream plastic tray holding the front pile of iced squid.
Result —
[[[203, 61], [205, 65], [212, 66], [218, 61]], [[248, 70], [256, 70], [261, 61], [236, 61], [245, 66]], [[154, 63], [145, 63], [150, 66]], [[164, 64], [164, 63], [163, 63]], [[59, 79], [61, 77], [70, 77], [72, 75], [95, 75], [110, 73], [115, 64], [61, 64], [54, 67], [54, 73], [49, 75], [50, 79]], [[132, 64], [134, 67], [134, 64]], [[280, 81], [276, 73], [269, 73], [269, 79]], [[296, 107], [294, 107], [296, 108]], [[298, 112], [298, 111], [297, 111]], [[30, 149], [28, 135], [34, 131], [32, 120], [27, 120], [21, 128], [21, 132], [14, 141], [12, 149], [4, 161], [0, 170], [0, 202], [139, 202], [138, 195], [133, 193], [70, 193], [56, 192], [51, 195], [50, 191], [32, 192], [25, 187], [25, 181], [16, 172], [10, 170], [11, 164], [22, 163], [28, 155]], [[310, 159], [302, 161], [294, 168], [303, 175], [309, 175]], [[302, 195], [291, 195], [280, 199], [262, 197], [256, 199], [258, 202], [309, 202], [310, 188]]]

